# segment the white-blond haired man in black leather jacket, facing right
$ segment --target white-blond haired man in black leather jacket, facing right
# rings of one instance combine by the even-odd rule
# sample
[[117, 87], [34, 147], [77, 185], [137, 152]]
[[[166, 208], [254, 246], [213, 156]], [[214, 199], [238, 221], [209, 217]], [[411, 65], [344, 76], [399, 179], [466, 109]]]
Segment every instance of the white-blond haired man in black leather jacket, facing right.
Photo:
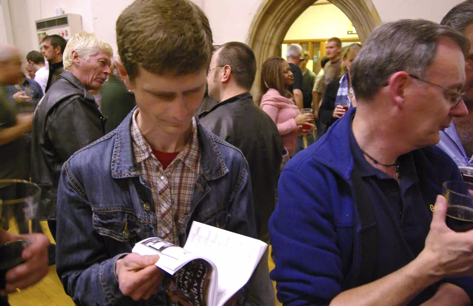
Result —
[[112, 47], [94, 34], [71, 37], [62, 55], [64, 72], [39, 102], [33, 117], [31, 179], [41, 186], [36, 219], [48, 220], [56, 238], [56, 193], [64, 161], [104, 135], [105, 118], [89, 90], [110, 74]]

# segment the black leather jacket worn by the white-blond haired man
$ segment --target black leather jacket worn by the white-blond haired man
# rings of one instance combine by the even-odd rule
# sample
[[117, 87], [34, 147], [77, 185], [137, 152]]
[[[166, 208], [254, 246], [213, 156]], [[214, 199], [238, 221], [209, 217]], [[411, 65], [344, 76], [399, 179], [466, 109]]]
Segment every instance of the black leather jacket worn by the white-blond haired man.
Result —
[[31, 179], [41, 187], [36, 219], [56, 218], [62, 164], [77, 150], [104, 135], [105, 118], [94, 96], [64, 71], [39, 102], [31, 133]]

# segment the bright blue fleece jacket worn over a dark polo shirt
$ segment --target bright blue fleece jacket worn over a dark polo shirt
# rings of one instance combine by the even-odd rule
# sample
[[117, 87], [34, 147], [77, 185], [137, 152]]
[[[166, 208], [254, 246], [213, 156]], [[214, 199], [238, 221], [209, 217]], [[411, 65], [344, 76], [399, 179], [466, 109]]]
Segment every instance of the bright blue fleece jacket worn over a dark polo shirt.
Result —
[[[340, 292], [360, 285], [361, 225], [350, 182], [350, 118], [355, 111], [337, 120], [281, 173], [269, 232], [276, 264], [271, 278], [284, 306], [329, 305]], [[413, 154], [422, 194], [441, 194], [444, 181], [461, 179], [455, 163], [437, 147]], [[473, 301], [473, 278], [442, 282], [463, 288]]]

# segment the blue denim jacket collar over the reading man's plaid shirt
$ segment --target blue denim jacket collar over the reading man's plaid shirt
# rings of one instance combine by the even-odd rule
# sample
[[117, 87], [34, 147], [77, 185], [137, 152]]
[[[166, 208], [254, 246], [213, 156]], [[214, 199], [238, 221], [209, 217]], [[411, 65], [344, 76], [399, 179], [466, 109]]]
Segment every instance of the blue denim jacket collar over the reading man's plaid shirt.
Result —
[[[112, 133], [116, 133], [114, 150], [112, 154], [112, 177], [131, 178], [138, 177], [140, 171], [136, 167], [133, 159], [133, 141], [131, 138], [131, 116], [136, 110], [136, 106], [122, 123]], [[201, 172], [206, 180], [217, 179], [228, 173], [228, 168], [217, 148], [216, 141], [219, 141], [213, 134], [203, 127], [197, 116], [197, 136], [201, 150]]]

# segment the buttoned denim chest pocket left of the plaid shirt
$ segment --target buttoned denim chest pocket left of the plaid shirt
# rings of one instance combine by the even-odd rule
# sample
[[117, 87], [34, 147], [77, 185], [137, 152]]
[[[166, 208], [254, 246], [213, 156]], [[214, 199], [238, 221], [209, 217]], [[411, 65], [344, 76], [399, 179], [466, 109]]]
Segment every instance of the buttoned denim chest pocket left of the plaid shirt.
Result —
[[92, 207], [94, 229], [102, 236], [121, 242], [136, 240], [140, 236], [138, 217], [131, 208]]

